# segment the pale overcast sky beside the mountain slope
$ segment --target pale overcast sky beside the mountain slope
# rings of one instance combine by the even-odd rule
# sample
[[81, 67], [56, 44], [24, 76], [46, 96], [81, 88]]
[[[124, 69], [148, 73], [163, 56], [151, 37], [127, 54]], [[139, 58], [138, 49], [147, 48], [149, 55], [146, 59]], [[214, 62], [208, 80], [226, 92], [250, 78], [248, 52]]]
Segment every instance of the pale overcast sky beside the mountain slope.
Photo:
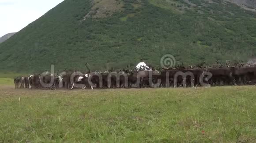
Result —
[[64, 0], [0, 0], [0, 37], [18, 32]]

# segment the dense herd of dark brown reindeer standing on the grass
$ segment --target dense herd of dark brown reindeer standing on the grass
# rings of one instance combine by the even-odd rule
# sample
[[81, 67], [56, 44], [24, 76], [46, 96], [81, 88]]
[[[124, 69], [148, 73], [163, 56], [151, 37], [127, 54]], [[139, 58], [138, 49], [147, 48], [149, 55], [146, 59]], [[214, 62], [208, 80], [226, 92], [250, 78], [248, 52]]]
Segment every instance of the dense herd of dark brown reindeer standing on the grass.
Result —
[[173, 68], [145, 68], [120, 71], [87, 72], [64, 70], [60, 74], [33, 74], [14, 78], [15, 88], [29, 89], [105, 89], [105, 88], [147, 88], [147, 87], [197, 87], [255, 85], [254, 64], [219, 64]]

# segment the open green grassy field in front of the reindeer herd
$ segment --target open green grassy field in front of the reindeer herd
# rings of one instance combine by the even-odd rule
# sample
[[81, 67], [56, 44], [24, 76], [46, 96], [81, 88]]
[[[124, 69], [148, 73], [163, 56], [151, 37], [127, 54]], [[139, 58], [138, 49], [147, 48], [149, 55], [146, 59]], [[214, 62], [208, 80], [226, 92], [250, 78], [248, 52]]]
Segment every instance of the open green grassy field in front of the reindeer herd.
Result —
[[255, 86], [0, 91], [0, 142], [256, 142]]

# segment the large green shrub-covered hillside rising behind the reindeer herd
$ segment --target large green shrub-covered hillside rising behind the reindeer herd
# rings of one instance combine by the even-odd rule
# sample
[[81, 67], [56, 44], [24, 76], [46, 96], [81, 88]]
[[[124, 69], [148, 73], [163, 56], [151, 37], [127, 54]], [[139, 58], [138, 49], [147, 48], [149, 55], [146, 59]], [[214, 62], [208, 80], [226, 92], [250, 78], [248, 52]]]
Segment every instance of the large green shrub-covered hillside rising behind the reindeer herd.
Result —
[[65, 0], [0, 44], [1, 70], [123, 68], [256, 56], [256, 13], [225, 0]]

